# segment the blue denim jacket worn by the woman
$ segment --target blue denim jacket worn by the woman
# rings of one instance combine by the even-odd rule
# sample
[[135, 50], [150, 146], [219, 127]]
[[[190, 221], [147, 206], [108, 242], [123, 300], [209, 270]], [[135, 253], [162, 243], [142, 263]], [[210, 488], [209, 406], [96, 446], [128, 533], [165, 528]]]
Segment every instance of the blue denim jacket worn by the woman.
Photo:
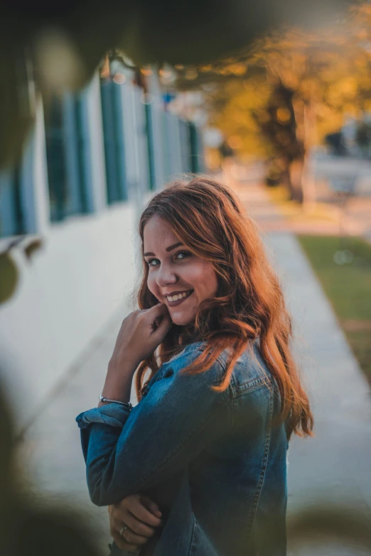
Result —
[[141, 555], [284, 556], [288, 442], [274, 422], [276, 381], [256, 341], [217, 393], [227, 350], [203, 374], [180, 372], [204, 347], [163, 364], [131, 411], [110, 403], [77, 416], [90, 498], [107, 506], [141, 492], [158, 503], [165, 525]]

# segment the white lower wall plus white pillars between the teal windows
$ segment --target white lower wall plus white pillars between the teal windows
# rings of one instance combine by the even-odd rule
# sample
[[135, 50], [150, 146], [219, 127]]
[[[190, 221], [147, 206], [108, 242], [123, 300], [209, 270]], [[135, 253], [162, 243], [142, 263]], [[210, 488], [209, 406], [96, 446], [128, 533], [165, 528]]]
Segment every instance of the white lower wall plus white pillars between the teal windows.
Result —
[[[43, 249], [31, 261], [21, 244], [12, 250], [20, 280], [16, 294], [0, 307], [0, 373], [5, 377], [18, 427], [26, 425], [48, 396], [53, 396], [53, 388], [115, 312], [121, 310], [124, 318], [133, 308], [127, 301], [140, 264], [137, 221], [151, 194], [143, 92], [129, 83], [122, 85], [121, 92], [129, 201], [107, 207], [100, 79], [96, 73], [80, 93], [88, 139], [85, 157], [90, 214], [58, 224], [50, 224], [43, 106], [39, 102], [36, 126], [23, 156], [21, 196], [26, 232], [37, 234]], [[66, 97], [65, 102], [71, 99]], [[171, 146], [168, 152], [163, 144], [159, 150], [156, 146], [161, 169], [156, 174], [158, 187], [163, 185], [162, 178], [158, 181], [163, 176], [162, 162], [171, 168], [170, 173], [181, 172], [182, 164], [178, 119], [172, 114], [163, 116], [157, 102], [156, 140], [165, 141], [161, 131], [166, 117]], [[70, 149], [66, 153], [69, 183], [73, 185], [77, 171], [72, 168]], [[165, 161], [165, 154], [171, 160]], [[1, 178], [9, 182], [9, 176]], [[11, 199], [9, 191], [6, 193], [8, 207]], [[107, 363], [102, 361], [103, 366]]]

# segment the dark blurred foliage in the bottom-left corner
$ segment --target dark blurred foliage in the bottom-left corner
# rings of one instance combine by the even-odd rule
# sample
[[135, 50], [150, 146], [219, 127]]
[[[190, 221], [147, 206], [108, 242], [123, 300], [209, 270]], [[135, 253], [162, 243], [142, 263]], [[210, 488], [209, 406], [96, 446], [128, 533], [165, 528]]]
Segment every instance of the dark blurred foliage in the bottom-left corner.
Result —
[[19, 486], [14, 430], [0, 388], [0, 538], [1, 556], [99, 556], [87, 520], [62, 506], [35, 503]]

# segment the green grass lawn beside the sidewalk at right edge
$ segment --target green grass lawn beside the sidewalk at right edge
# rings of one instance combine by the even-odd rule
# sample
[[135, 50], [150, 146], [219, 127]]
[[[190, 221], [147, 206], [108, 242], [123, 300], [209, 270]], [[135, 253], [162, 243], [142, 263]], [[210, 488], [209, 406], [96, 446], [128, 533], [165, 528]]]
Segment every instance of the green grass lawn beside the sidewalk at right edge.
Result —
[[[350, 347], [371, 381], [371, 245], [355, 237], [298, 236], [333, 305]], [[338, 265], [336, 251], [353, 254]]]

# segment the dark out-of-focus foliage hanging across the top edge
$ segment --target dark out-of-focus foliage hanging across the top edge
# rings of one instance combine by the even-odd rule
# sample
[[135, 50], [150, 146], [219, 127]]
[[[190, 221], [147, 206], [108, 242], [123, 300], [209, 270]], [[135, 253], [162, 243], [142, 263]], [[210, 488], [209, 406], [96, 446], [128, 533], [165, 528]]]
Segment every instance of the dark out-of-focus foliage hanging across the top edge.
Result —
[[21, 156], [38, 95], [87, 83], [107, 50], [136, 65], [198, 64], [280, 25], [317, 26], [350, 0], [65, 0], [0, 6], [0, 168]]

